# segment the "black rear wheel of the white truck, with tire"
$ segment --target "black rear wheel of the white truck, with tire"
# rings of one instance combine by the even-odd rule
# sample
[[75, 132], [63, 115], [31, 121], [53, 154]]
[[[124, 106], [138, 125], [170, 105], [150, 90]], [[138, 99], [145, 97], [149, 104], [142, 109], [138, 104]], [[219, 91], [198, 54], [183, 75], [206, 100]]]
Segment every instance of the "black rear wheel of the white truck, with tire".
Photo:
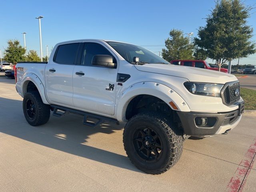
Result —
[[27, 92], [23, 98], [23, 112], [30, 125], [42, 125], [50, 118], [50, 105], [43, 103], [37, 91]]

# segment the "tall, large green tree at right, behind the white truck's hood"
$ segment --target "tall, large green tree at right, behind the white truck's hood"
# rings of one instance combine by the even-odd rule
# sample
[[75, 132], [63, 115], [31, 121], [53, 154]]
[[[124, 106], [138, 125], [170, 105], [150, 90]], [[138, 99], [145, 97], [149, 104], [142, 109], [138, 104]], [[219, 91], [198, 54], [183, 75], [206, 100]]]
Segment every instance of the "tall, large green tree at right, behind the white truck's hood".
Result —
[[255, 43], [250, 40], [253, 29], [247, 25], [251, 10], [240, 0], [217, 0], [206, 26], [199, 28], [194, 42], [216, 60], [219, 70], [228, 60], [255, 53]]

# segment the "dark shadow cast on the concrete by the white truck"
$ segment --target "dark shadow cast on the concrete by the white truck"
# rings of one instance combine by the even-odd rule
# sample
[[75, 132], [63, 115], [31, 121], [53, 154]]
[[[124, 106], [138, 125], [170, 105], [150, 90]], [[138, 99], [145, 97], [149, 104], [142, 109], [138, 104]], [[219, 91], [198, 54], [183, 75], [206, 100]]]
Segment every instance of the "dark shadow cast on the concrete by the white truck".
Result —
[[141, 172], [126, 156], [86, 145], [90, 135], [107, 134], [103, 135], [104, 139], [99, 136], [96, 142], [102, 146], [110, 146], [112, 151], [115, 150], [115, 140], [110, 134], [114, 133], [114, 130], [122, 129], [123, 126], [105, 123], [91, 128], [82, 124], [82, 116], [70, 114], [63, 118], [51, 116], [48, 123], [33, 127], [24, 118], [22, 101], [0, 97], [0, 104], [0, 114], [5, 114], [0, 119], [0, 132], [4, 134], [104, 164]]

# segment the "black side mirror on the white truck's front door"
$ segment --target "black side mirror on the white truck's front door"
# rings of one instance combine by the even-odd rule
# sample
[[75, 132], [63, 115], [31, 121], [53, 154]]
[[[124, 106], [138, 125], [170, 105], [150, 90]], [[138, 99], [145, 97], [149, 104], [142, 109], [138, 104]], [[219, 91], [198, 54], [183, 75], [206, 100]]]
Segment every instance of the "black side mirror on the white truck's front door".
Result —
[[113, 58], [110, 55], [94, 55], [92, 65], [108, 68], [116, 68], [116, 63], [113, 63]]

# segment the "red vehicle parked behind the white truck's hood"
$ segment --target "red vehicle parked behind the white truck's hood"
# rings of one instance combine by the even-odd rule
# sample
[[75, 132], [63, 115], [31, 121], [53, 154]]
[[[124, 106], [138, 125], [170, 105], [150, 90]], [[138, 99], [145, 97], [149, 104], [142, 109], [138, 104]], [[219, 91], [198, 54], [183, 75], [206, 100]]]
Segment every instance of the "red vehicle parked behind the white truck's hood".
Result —
[[[218, 68], [211, 67], [207, 61], [202, 61], [202, 60], [172, 60], [171, 64], [210, 69], [215, 71], [219, 70]], [[228, 72], [228, 70], [225, 68], [220, 68], [220, 71], [224, 73]]]

